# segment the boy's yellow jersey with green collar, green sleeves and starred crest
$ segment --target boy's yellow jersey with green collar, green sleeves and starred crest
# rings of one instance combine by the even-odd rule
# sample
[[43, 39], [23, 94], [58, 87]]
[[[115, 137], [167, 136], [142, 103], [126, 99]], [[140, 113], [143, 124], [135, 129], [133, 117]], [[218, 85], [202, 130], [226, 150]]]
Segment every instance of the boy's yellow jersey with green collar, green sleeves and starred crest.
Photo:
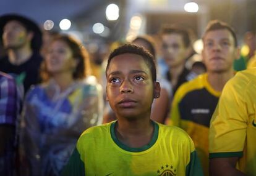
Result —
[[194, 144], [183, 130], [153, 122], [148, 145], [130, 148], [117, 121], [85, 130], [62, 175], [202, 175]]

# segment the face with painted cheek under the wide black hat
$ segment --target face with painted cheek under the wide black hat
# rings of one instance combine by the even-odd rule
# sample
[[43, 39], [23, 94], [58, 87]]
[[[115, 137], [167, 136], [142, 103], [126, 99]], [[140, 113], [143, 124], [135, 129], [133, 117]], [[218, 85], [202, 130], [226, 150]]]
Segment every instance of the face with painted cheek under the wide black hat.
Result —
[[22, 23], [12, 20], [6, 23], [2, 33], [2, 42], [5, 49], [19, 49], [31, 40]]

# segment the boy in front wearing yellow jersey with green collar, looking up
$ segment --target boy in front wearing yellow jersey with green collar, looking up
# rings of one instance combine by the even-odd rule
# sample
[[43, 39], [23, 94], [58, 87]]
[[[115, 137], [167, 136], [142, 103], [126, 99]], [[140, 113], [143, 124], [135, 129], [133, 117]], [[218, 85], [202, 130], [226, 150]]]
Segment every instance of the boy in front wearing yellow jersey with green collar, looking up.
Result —
[[152, 55], [121, 46], [109, 55], [106, 78], [117, 121], [85, 130], [62, 175], [202, 175], [189, 135], [150, 120], [160, 96]]

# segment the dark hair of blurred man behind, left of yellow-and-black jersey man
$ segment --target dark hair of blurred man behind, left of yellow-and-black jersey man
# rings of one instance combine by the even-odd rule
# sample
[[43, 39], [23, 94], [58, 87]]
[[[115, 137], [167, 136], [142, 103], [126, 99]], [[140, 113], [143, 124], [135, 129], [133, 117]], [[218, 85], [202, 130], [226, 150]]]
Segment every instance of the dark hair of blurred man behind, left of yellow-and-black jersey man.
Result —
[[181, 26], [163, 25], [160, 30], [160, 35], [163, 36], [164, 34], [180, 34], [182, 36], [184, 46], [186, 48], [190, 46], [189, 31]]

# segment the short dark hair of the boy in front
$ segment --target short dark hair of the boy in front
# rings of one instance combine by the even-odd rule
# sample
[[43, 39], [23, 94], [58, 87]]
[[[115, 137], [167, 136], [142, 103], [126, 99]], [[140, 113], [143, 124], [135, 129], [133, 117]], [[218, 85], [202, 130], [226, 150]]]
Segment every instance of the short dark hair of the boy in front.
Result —
[[123, 46], [120, 46], [117, 49], [113, 50], [113, 52], [111, 52], [111, 54], [108, 57], [106, 73], [108, 71], [111, 60], [117, 55], [121, 55], [121, 54], [137, 54], [142, 56], [143, 60], [148, 65], [148, 68], [150, 68], [153, 82], [156, 81], [156, 65], [154, 62], [153, 55], [151, 55], [147, 50], [143, 49], [143, 47], [137, 46], [135, 44], [124, 44]]

